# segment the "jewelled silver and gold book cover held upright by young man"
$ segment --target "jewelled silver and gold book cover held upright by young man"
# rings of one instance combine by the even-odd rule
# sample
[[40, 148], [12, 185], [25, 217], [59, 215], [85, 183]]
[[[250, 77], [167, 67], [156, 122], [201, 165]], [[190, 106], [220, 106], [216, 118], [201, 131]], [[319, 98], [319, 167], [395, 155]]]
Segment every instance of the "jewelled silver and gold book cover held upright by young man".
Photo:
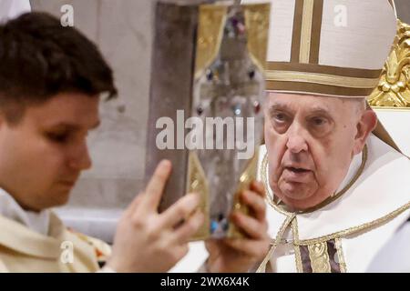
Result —
[[270, 5], [209, 2], [157, 4], [151, 65], [146, 176], [172, 162], [160, 211], [200, 195], [193, 239], [241, 236], [230, 214], [247, 211], [239, 194], [256, 179], [263, 135]]

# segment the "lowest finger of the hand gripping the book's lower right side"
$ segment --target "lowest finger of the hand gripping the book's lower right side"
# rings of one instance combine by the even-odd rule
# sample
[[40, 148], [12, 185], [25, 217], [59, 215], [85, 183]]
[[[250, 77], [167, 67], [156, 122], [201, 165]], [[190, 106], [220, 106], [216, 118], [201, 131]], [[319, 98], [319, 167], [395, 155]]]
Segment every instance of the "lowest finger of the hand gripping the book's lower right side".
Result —
[[264, 240], [226, 239], [224, 243], [245, 256], [255, 257], [255, 260], [262, 259], [269, 252], [269, 243]]

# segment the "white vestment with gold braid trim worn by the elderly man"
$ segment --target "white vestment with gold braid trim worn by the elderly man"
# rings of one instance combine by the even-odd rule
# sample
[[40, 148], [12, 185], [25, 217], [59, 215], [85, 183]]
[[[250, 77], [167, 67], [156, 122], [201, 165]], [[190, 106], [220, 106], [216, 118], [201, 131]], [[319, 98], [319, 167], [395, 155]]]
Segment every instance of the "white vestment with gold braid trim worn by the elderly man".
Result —
[[[265, 181], [266, 166], [265, 160], [261, 163]], [[287, 212], [272, 201], [268, 187], [272, 237], [268, 270], [365, 272], [410, 216], [410, 186], [403, 185], [409, 173], [408, 158], [371, 135], [364, 152], [354, 156], [336, 193], [340, 196], [328, 205], [306, 213]]]

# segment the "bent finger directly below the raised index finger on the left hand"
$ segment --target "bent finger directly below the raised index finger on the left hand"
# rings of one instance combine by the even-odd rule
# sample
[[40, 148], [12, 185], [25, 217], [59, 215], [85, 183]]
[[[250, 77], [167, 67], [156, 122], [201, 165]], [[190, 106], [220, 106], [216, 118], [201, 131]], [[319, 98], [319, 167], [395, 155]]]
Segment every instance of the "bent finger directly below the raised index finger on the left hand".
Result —
[[181, 220], [188, 218], [200, 205], [200, 196], [188, 194], [180, 198], [174, 205], [159, 215], [159, 224], [168, 228], [176, 226]]

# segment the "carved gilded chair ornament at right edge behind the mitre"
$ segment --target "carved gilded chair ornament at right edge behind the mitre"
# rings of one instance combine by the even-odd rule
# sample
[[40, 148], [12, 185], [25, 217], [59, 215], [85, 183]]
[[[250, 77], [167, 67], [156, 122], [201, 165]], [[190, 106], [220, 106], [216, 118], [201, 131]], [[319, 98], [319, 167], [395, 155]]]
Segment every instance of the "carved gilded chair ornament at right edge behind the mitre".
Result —
[[393, 51], [368, 99], [374, 107], [410, 107], [410, 25], [397, 20], [397, 27]]

